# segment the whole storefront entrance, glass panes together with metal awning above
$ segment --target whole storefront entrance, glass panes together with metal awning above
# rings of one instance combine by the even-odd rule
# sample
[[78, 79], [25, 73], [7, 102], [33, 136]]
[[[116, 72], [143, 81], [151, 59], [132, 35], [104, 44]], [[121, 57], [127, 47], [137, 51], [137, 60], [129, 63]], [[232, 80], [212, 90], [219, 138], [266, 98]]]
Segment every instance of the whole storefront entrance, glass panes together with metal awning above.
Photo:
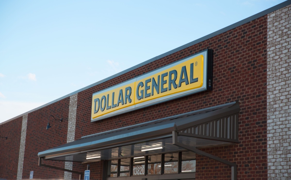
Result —
[[106, 180], [195, 179], [200, 154], [231, 166], [235, 180], [236, 164], [196, 148], [237, 143], [239, 110], [237, 102], [227, 103], [82, 137], [38, 153], [40, 165], [42, 159], [104, 160]]

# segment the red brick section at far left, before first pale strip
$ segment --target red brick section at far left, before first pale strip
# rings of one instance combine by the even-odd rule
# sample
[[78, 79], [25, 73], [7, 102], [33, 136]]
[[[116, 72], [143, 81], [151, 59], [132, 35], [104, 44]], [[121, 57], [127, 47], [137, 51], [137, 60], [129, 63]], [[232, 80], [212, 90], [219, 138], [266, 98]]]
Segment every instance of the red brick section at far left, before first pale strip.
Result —
[[[21, 137], [22, 117], [0, 126], [0, 178], [16, 179], [19, 145]], [[16, 147], [16, 148], [15, 148]]]

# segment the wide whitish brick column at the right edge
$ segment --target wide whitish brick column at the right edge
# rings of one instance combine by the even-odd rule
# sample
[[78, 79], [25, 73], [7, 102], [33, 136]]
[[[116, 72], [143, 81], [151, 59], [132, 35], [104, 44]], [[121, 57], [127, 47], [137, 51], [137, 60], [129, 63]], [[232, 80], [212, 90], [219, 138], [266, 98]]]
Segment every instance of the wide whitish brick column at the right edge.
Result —
[[268, 179], [291, 179], [291, 6], [268, 14]]

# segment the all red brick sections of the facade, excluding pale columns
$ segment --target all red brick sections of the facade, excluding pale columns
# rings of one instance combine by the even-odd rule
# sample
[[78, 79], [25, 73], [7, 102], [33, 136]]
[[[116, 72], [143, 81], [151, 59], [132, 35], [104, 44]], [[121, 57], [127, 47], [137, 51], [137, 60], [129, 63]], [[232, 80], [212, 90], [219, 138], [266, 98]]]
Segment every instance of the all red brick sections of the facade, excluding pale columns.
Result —
[[[175, 52], [120, 75], [107, 82], [78, 93], [75, 140], [85, 135], [151, 121], [175, 114], [190, 112], [214, 105], [239, 101], [239, 144], [202, 149], [214, 156], [237, 164], [238, 179], [267, 179], [267, 17], [219, 34], [213, 38]], [[91, 123], [92, 94], [120, 82], [132, 79], [205, 49], [214, 50], [213, 90], [160, 103]], [[37, 153], [67, 142], [69, 98], [28, 114], [26, 147], [22, 178], [62, 179], [63, 171], [38, 166]], [[63, 122], [50, 119], [52, 128], [46, 130], [49, 115], [63, 118]], [[16, 179], [22, 118], [0, 127], [0, 145], [8, 147], [0, 154], [1, 178]], [[11, 139], [10, 139], [11, 138]], [[6, 153], [9, 156], [3, 156]], [[13, 155], [13, 157], [12, 157]], [[64, 167], [63, 162], [43, 162]], [[230, 179], [230, 167], [197, 155], [196, 179]], [[103, 162], [89, 163], [91, 179], [102, 178]], [[84, 172], [87, 164], [73, 163], [73, 170]], [[4, 169], [5, 168], [5, 169]], [[78, 175], [72, 174], [73, 179]]]

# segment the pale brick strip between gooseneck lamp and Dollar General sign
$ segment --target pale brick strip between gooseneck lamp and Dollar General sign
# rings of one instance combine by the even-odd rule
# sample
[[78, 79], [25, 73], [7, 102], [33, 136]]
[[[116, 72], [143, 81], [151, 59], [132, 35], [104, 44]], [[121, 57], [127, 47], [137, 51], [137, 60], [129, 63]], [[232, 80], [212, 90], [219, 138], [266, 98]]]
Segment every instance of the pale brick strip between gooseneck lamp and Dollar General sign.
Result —
[[[77, 99], [78, 99], [78, 94], [74, 94], [74, 95], [70, 96], [67, 143], [73, 142], [75, 140]], [[72, 170], [73, 163], [66, 161], [65, 162], [65, 169]], [[64, 179], [72, 179], [72, 173], [65, 171], [64, 172]]]

